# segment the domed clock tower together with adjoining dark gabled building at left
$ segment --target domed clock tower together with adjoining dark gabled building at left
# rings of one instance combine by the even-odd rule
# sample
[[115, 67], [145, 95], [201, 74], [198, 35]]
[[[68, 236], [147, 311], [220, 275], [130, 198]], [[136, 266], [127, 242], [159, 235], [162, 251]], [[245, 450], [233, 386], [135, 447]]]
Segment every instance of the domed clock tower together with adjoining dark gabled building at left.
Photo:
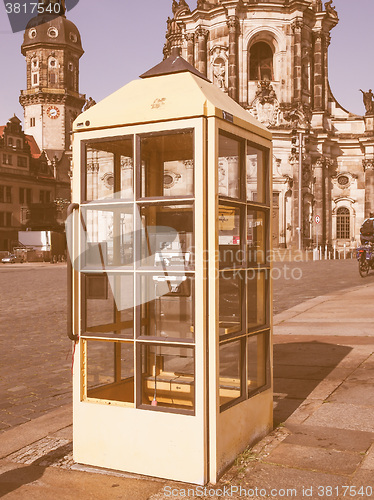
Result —
[[[61, 15], [48, 12], [60, 4]], [[12, 251], [18, 231], [64, 231], [70, 202], [72, 123], [86, 103], [79, 93], [80, 33], [62, 0], [39, 2], [21, 52], [26, 88], [21, 91], [24, 129], [12, 117], [0, 126], [0, 251]]]

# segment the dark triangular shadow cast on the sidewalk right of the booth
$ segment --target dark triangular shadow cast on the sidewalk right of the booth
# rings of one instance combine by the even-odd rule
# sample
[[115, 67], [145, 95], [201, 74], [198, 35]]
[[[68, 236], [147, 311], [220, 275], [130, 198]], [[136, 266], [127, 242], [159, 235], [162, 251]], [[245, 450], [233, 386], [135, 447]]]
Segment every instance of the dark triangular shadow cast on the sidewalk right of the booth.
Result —
[[317, 341], [274, 345], [274, 427], [301, 405], [352, 348]]

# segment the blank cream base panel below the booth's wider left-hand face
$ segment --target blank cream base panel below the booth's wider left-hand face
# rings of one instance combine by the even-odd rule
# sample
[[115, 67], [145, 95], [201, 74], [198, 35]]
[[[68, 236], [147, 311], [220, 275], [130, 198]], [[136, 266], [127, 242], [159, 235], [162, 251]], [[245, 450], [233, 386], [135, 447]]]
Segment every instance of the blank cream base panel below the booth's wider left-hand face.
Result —
[[95, 401], [74, 404], [77, 463], [203, 485], [203, 419]]

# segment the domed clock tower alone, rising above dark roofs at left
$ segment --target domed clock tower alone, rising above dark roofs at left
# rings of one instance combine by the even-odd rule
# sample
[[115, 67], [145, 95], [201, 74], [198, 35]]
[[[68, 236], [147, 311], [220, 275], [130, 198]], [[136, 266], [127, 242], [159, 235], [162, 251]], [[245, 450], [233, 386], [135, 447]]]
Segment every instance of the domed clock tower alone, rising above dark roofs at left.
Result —
[[[77, 27], [66, 19], [64, 2], [39, 3], [43, 11], [28, 23], [21, 48], [27, 88], [21, 91], [20, 103], [25, 133], [35, 138], [55, 168], [60, 165], [61, 177], [63, 170], [68, 174], [61, 164], [69, 157], [71, 125], [85, 103], [79, 93], [79, 59], [84, 51]], [[58, 11], [60, 15], [53, 14]]]

